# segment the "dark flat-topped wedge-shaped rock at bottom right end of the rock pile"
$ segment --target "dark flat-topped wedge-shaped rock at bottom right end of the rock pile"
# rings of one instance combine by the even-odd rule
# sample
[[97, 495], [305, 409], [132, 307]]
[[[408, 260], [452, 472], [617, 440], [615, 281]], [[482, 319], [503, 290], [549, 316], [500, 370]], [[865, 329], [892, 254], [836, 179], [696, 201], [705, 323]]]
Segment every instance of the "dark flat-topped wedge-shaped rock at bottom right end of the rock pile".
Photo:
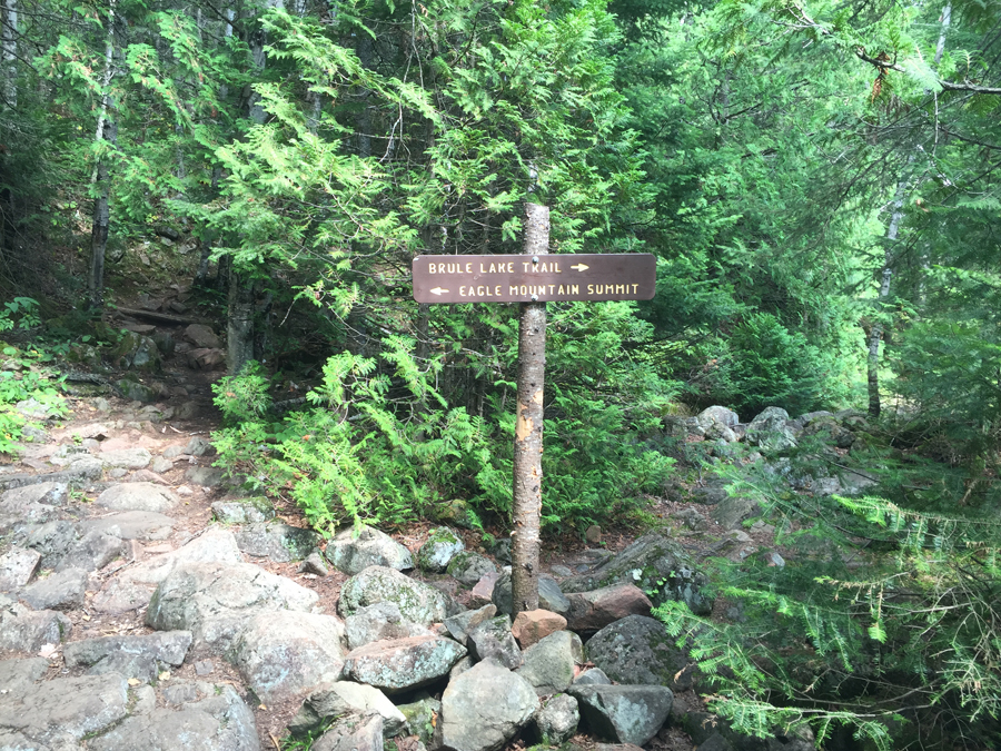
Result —
[[663, 685], [574, 685], [568, 693], [596, 735], [635, 745], [657, 734], [674, 703]]

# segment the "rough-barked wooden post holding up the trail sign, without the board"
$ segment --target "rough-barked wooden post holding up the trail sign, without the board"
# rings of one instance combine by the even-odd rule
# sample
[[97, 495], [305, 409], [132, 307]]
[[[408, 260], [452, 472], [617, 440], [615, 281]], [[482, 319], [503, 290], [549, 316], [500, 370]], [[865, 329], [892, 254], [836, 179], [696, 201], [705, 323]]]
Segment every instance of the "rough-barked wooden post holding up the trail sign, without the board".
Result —
[[[525, 255], [537, 257], [548, 253], [548, 207], [526, 204], [525, 214]], [[545, 374], [546, 304], [522, 303], [518, 322], [518, 401], [515, 407], [514, 531], [511, 535], [513, 615], [538, 607]]]

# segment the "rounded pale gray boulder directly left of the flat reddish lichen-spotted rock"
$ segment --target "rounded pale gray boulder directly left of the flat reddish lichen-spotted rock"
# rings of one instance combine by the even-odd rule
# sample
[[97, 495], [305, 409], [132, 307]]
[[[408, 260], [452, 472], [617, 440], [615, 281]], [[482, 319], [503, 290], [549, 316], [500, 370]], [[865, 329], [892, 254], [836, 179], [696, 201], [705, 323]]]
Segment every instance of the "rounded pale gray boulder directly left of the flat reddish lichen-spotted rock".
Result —
[[265, 703], [305, 696], [340, 678], [344, 624], [330, 615], [258, 613], [234, 643], [230, 662]]

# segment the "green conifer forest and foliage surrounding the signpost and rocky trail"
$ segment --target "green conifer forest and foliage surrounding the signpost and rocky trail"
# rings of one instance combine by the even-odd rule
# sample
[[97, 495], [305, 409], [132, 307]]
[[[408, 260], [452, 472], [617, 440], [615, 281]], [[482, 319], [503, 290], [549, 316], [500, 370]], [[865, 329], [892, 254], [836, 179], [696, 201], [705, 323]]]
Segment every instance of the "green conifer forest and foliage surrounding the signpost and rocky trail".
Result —
[[795, 628], [706, 648], [721, 711], [997, 742], [997, 0], [2, 0], [0, 58], [6, 328], [100, 369], [102, 310], [194, 284], [226, 325], [227, 466], [318, 528], [484, 528], [511, 512], [517, 309], [417, 305], [409, 267], [518, 253], [531, 197], [553, 253], [657, 256], [650, 304], [549, 305], [549, 533], [642, 526], [722, 471], [675, 415], [858, 408], [838, 461], [878, 497], [755, 487], [864, 579], [727, 574]]

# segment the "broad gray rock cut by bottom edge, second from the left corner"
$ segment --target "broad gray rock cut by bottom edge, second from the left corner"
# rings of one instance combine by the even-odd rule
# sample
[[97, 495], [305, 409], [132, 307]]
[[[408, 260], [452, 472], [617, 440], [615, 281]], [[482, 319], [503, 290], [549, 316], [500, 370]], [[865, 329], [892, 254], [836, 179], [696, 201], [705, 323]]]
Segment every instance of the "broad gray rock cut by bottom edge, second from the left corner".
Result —
[[[174, 683], [171, 681], [171, 683]], [[178, 688], [178, 684], [169, 686]], [[133, 712], [87, 743], [92, 751], [260, 751], [254, 712], [227, 683], [200, 684], [198, 701]]]

